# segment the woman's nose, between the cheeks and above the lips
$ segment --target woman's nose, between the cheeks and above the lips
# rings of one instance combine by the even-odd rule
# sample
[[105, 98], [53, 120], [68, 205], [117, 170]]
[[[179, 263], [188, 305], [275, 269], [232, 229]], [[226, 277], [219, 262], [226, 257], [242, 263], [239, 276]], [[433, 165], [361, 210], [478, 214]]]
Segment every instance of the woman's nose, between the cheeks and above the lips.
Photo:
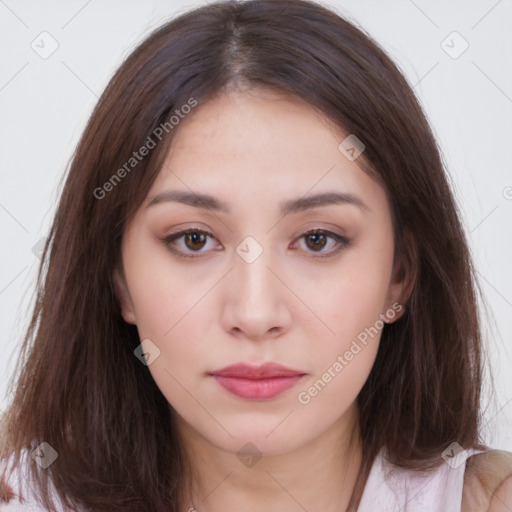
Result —
[[235, 255], [222, 312], [226, 331], [254, 341], [278, 338], [288, 331], [293, 294], [283, 281], [265, 251], [252, 263]]

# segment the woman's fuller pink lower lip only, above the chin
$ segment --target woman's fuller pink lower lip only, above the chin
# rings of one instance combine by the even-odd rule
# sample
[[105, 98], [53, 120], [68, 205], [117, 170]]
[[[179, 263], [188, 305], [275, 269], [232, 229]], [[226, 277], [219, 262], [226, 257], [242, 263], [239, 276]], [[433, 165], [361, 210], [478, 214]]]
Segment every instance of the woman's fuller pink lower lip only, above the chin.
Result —
[[266, 400], [280, 395], [295, 386], [302, 375], [292, 377], [272, 377], [269, 379], [241, 379], [214, 375], [217, 382], [227, 391], [240, 398]]

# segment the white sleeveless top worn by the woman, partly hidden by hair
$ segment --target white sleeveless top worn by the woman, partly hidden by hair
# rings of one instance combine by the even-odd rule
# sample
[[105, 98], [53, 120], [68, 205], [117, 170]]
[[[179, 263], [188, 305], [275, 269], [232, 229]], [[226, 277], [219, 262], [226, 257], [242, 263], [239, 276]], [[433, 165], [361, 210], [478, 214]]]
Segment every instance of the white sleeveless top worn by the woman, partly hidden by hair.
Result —
[[[481, 451], [460, 451], [460, 446], [455, 443], [454, 446], [455, 450], [448, 451], [439, 468], [423, 474], [392, 466], [383, 457], [383, 452], [379, 453], [368, 476], [358, 512], [461, 512], [466, 460]], [[27, 450], [23, 465], [32, 462], [27, 460], [28, 456]], [[4, 467], [5, 462], [2, 462], [0, 475]], [[17, 496], [21, 493], [24, 501], [13, 498], [9, 503], [0, 503], [1, 512], [46, 512], [38, 505], [27, 487], [27, 475], [21, 475], [19, 468], [12, 475], [7, 474], [7, 484]], [[61, 506], [58, 512], [71, 511]]]

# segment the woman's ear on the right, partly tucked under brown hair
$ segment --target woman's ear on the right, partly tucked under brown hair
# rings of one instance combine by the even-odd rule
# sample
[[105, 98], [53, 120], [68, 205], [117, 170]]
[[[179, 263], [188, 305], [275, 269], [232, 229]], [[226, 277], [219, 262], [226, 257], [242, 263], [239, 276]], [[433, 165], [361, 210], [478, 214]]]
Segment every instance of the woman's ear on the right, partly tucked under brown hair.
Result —
[[[402, 250], [395, 258], [386, 298], [388, 321], [393, 323], [404, 315], [418, 276], [418, 249], [409, 231], [404, 232]], [[386, 314], [386, 312], [384, 314]]]

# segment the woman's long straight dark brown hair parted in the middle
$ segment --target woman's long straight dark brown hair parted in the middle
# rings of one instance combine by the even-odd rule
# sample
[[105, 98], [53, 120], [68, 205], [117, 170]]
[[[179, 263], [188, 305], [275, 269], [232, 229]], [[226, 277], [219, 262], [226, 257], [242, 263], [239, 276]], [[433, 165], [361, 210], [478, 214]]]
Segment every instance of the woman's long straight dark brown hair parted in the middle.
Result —
[[364, 143], [358, 162], [386, 190], [395, 257], [414, 277], [405, 314], [385, 326], [358, 396], [363, 463], [350, 508], [381, 448], [395, 464], [428, 468], [453, 441], [482, 447], [476, 280], [411, 87], [369, 36], [319, 4], [218, 2], [169, 21], [132, 52], [74, 154], [4, 417], [4, 456], [43, 441], [58, 452], [47, 471], [31, 465], [47, 507], [50, 475], [68, 505], [183, 507], [186, 464], [168, 403], [134, 357], [137, 329], [123, 321], [113, 284], [123, 228], [161, 169], [173, 129], [122, 181], [113, 175], [176, 109], [236, 83], [299, 97]]

